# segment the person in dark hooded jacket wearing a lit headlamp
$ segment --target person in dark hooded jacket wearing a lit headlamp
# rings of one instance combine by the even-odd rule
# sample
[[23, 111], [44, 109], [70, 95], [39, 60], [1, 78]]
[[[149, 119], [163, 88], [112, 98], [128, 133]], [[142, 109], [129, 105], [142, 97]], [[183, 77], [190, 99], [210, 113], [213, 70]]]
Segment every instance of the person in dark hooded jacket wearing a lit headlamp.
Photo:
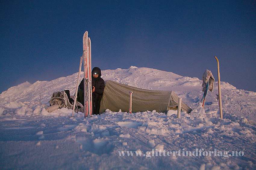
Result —
[[[84, 79], [80, 82], [77, 101], [84, 106]], [[92, 69], [92, 114], [98, 115], [100, 109], [100, 101], [104, 91], [105, 82], [101, 78], [101, 70], [98, 67]]]

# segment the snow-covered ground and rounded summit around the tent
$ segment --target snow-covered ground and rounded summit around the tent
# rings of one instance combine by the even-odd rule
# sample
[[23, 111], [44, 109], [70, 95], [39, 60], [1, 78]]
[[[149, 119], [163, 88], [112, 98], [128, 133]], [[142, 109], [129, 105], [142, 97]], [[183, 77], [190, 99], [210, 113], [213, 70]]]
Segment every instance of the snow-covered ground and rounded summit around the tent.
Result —
[[0, 169], [256, 169], [255, 92], [221, 82], [220, 119], [217, 82], [203, 109], [198, 106], [203, 95], [198, 78], [118, 68], [103, 70], [102, 78], [172, 90], [192, 112], [182, 112], [179, 119], [177, 111], [106, 110], [90, 118], [81, 112], [70, 118], [67, 108], [46, 112], [52, 93], [75, 88], [77, 75], [25, 82], [2, 92]]

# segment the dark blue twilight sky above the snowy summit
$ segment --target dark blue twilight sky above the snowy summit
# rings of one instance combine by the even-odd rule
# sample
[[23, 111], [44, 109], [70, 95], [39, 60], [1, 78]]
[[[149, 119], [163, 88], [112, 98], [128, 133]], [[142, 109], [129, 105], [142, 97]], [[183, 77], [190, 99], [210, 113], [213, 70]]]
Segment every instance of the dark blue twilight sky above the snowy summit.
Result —
[[[0, 93], [78, 72], [89, 32], [92, 67], [131, 65], [202, 79], [205, 69], [256, 91], [255, 1], [1, 1]], [[216, 87], [217, 88], [217, 87]]]

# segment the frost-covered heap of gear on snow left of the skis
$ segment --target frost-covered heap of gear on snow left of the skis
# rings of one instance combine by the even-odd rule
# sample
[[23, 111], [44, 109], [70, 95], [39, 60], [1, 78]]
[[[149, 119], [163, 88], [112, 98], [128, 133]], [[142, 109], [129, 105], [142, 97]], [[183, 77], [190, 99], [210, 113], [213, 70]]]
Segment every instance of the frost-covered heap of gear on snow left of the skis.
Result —
[[[70, 96], [74, 100], [74, 96]], [[52, 99], [49, 101], [50, 106], [57, 104], [59, 108], [67, 107], [68, 109], [73, 109], [73, 103], [69, 102], [70, 99], [65, 93], [65, 91], [56, 91], [52, 94]], [[83, 107], [79, 102], [76, 103], [76, 107]]]

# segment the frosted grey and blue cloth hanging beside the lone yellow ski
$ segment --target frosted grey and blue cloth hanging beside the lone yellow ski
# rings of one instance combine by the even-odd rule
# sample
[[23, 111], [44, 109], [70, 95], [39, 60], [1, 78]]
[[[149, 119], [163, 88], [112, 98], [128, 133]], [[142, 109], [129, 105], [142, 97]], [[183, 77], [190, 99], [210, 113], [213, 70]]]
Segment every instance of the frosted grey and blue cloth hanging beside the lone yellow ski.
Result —
[[203, 87], [202, 91], [204, 91], [204, 95], [203, 95], [200, 103], [202, 103], [202, 106], [204, 108], [204, 102], [205, 102], [205, 98], [206, 98], [208, 90], [213, 91], [213, 89], [214, 89], [214, 77], [210, 70], [204, 71], [202, 87]]

